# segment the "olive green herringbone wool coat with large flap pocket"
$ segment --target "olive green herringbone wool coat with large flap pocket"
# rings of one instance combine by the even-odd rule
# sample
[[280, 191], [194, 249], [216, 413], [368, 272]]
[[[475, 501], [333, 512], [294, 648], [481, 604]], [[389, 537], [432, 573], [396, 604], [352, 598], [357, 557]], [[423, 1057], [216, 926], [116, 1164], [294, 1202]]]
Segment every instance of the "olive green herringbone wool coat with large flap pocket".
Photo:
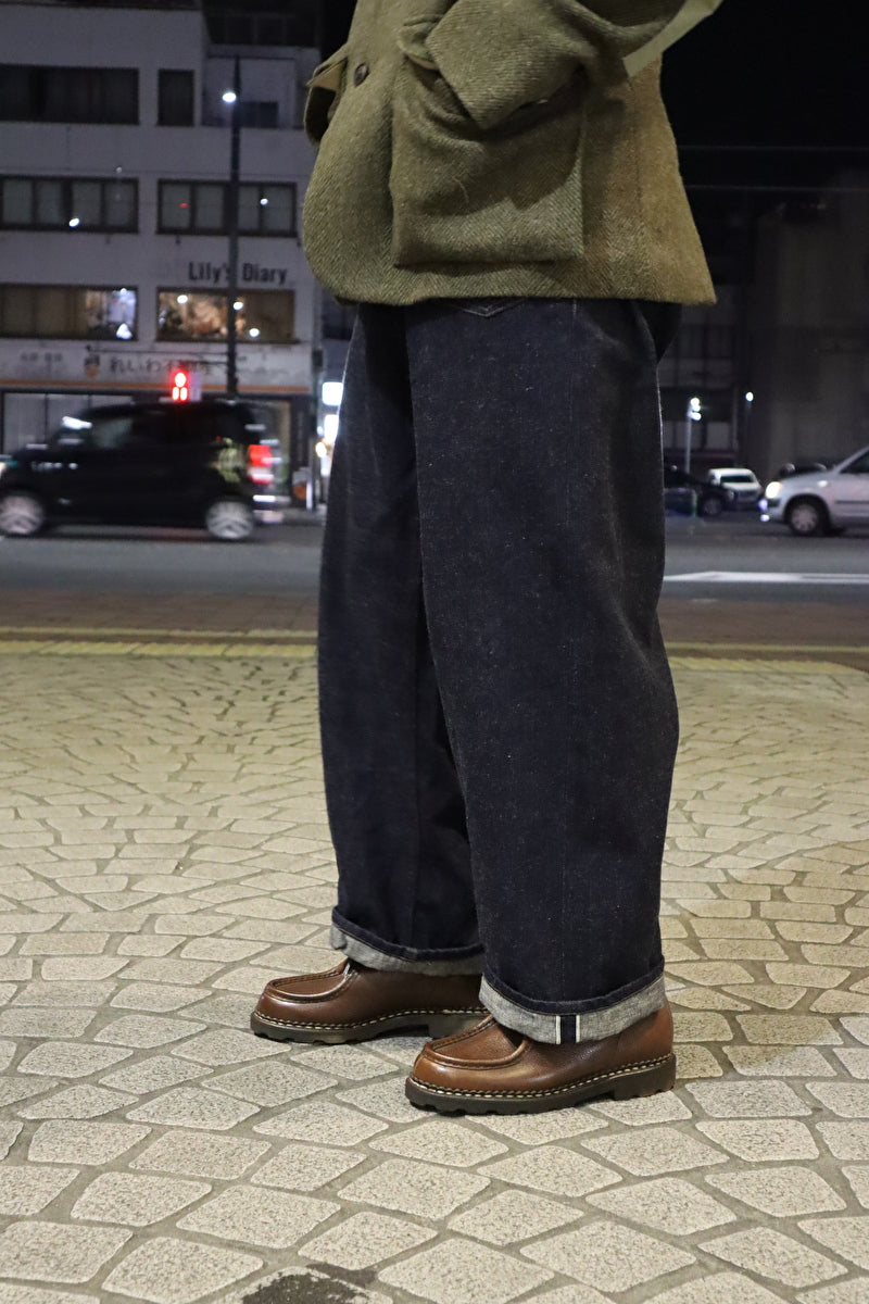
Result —
[[304, 239], [337, 297], [707, 303], [661, 53], [720, 0], [358, 0], [314, 74]]

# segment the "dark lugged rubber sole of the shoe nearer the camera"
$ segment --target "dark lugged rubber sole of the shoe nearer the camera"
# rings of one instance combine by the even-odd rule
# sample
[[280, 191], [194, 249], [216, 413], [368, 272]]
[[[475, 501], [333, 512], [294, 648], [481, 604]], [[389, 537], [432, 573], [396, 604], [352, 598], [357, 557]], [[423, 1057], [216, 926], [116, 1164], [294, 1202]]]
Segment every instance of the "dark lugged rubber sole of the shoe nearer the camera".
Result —
[[628, 1064], [611, 1073], [595, 1073], [551, 1091], [452, 1091], [429, 1086], [413, 1074], [405, 1084], [405, 1095], [421, 1110], [439, 1114], [543, 1114], [546, 1110], [565, 1110], [585, 1101], [608, 1097], [614, 1101], [632, 1101], [641, 1095], [671, 1091], [676, 1084], [676, 1056]]

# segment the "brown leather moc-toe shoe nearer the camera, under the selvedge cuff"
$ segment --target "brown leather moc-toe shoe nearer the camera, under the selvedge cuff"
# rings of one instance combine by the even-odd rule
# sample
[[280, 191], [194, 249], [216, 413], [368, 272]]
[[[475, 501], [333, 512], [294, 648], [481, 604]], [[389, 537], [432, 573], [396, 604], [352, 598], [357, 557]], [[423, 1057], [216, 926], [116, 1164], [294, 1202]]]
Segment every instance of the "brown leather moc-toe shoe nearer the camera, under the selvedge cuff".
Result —
[[442, 1114], [538, 1114], [610, 1095], [668, 1091], [676, 1078], [672, 1015], [664, 1005], [599, 1042], [547, 1046], [494, 1018], [429, 1042], [406, 1081], [412, 1104]]

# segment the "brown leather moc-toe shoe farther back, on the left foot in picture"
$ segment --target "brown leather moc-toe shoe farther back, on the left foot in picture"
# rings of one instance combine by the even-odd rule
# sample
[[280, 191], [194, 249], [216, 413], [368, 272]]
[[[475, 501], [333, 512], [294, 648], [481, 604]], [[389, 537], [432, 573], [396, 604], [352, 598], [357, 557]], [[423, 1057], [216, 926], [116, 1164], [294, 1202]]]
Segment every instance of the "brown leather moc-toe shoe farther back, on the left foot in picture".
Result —
[[276, 1042], [363, 1042], [400, 1028], [446, 1037], [485, 1013], [478, 974], [383, 973], [345, 960], [327, 973], [272, 979], [250, 1026]]

